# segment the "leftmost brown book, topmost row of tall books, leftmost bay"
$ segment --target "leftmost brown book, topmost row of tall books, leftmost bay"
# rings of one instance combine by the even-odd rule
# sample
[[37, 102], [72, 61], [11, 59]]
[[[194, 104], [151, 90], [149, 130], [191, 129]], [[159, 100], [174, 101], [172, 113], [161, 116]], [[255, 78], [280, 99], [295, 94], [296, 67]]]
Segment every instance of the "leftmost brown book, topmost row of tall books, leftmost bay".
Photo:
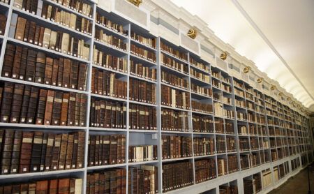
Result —
[[13, 61], [15, 58], [15, 45], [7, 44], [4, 54], [2, 73], [3, 77], [12, 77]]

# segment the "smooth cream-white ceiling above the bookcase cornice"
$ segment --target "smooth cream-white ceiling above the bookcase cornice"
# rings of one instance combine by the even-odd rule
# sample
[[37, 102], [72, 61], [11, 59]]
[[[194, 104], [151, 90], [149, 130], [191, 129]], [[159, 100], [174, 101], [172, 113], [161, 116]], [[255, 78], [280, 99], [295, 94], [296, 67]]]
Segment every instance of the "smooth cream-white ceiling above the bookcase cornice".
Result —
[[306, 107], [314, 105], [313, 0], [171, 1], [202, 18]]

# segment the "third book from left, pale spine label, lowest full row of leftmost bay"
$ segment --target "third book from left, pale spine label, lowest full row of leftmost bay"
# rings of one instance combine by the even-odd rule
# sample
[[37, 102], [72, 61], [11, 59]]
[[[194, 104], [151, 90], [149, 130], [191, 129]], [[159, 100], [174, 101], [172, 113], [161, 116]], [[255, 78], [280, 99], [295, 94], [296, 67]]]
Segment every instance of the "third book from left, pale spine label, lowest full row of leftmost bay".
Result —
[[19, 173], [29, 172], [29, 167], [31, 164], [31, 145], [32, 144], [33, 144], [33, 132], [23, 131]]

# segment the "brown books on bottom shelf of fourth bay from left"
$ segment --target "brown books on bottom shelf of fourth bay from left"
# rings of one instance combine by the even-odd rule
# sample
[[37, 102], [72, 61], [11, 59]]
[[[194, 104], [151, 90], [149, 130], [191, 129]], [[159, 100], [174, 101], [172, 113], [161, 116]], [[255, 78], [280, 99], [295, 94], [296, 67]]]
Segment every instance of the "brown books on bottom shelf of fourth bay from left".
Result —
[[163, 192], [193, 184], [193, 163], [179, 161], [163, 164]]

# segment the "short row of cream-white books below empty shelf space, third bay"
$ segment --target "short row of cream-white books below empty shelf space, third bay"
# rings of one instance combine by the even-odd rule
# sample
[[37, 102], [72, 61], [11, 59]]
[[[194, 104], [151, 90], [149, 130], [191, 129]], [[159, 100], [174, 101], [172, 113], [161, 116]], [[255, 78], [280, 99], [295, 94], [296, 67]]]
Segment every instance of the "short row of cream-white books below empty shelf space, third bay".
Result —
[[156, 145], [130, 146], [128, 147], [128, 162], [138, 163], [143, 161], [155, 161], [158, 159]]

